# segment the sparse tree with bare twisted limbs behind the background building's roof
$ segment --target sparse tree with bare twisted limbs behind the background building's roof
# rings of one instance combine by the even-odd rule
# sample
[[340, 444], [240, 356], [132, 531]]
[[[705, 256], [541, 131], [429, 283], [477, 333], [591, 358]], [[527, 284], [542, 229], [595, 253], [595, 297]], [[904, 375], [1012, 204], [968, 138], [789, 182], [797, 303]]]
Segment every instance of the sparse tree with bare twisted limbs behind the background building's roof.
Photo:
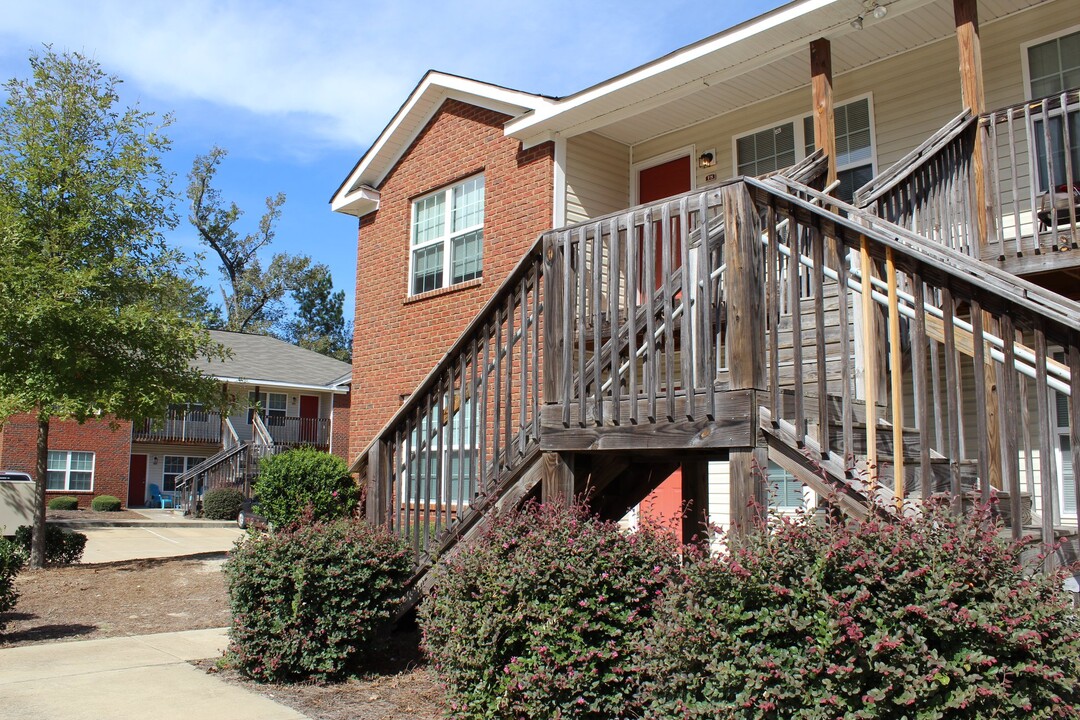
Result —
[[[237, 230], [244, 212], [214, 187], [227, 154], [214, 147], [194, 159], [188, 174], [189, 220], [220, 262], [225, 329], [275, 335], [326, 355], [347, 356], [345, 294], [333, 293], [329, 269], [306, 255], [274, 253], [266, 266], [259, 257], [273, 243], [285, 194], [266, 199], [254, 232], [241, 235]], [[293, 318], [289, 297], [297, 304]]]

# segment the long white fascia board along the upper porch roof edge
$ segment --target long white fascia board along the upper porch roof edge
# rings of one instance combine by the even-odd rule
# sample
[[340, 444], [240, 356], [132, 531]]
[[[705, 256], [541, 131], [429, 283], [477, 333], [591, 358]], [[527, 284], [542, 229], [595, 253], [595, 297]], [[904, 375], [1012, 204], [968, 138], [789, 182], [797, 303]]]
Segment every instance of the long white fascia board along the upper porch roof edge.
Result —
[[536, 108], [531, 112], [507, 123], [504, 126], [505, 134], [522, 139], [526, 142], [526, 147], [536, 145], [543, 141], [536, 138], [538, 134], [558, 132], [557, 128], [544, 127], [543, 125], [559, 114], [585, 106], [606, 95], [631, 87], [645, 80], [662, 76], [664, 72], [679, 66], [748, 40], [754, 36], [839, 1], [841, 0], [804, 0], [802, 2], [789, 3], [770, 13], [766, 13], [756, 19], [737, 25], [727, 32], [721, 32], [706, 40], [687, 45], [683, 50], [675, 51], [671, 55], [643, 65], [635, 70], [617, 76], [611, 80], [593, 85], [588, 90], [569, 95], [561, 100]]

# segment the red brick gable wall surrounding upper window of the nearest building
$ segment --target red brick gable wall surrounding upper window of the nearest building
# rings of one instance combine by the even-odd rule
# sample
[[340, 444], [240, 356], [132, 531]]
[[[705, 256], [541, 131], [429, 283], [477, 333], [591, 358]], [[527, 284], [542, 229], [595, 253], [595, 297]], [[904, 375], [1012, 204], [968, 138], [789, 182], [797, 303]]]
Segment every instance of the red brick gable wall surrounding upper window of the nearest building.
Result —
[[[361, 220], [353, 334], [350, 451], [362, 452], [551, 227], [552, 144], [522, 150], [504, 137], [508, 116], [447, 100], [379, 188]], [[411, 201], [484, 173], [484, 279], [408, 298]]]

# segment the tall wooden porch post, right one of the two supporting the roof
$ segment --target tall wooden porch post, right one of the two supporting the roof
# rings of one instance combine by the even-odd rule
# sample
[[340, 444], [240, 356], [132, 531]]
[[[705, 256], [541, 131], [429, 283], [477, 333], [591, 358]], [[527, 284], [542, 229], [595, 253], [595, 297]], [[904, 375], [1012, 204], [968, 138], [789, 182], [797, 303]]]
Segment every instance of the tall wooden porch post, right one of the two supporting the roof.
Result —
[[[978, 37], [977, 0], [953, 0], [953, 18], [956, 23], [956, 42], [960, 53], [960, 95], [964, 107], [973, 114], [986, 112], [986, 95], [983, 90], [983, 51]], [[983, 146], [983, 131], [975, 135], [971, 165], [975, 176], [975, 223], [980, 259], [989, 247], [989, 233], [994, 228], [994, 208], [989, 202], [986, 182], [986, 152]], [[983, 325], [987, 331], [999, 334], [999, 328], [989, 313], [983, 314]], [[989, 353], [986, 353], [989, 357]], [[998, 424], [998, 371], [994, 363], [983, 367], [986, 388], [986, 427], [990, 457], [990, 485], [1001, 488], [1001, 435]]]

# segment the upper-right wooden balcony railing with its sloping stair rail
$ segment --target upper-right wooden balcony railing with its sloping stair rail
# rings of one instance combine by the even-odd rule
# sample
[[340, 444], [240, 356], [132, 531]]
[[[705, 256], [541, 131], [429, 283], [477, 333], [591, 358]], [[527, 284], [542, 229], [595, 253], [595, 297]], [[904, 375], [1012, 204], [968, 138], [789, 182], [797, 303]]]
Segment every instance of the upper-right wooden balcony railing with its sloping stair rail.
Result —
[[961, 113], [860, 188], [855, 204], [1015, 275], [1072, 269], [1080, 267], [1078, 165], [1080, 91], [1070, 90]]

